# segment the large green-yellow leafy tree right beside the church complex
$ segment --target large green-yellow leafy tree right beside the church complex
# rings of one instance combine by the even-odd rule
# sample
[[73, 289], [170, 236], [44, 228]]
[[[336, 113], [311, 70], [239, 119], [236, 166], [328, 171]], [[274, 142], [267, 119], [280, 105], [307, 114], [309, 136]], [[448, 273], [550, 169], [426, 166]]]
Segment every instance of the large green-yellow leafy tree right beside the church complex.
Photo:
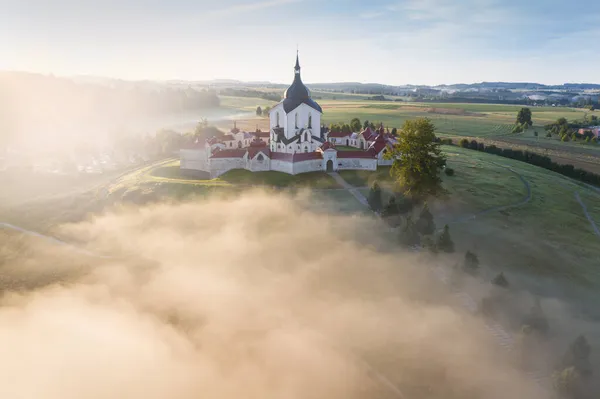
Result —
[[435, 126], [430, 120], [407, 120], [398, 143], [388, 153], [394, 160], [391, 174], [397, 188], [417, 202], [446, 194], [440, 176], [446, 158], [435, 139]]

